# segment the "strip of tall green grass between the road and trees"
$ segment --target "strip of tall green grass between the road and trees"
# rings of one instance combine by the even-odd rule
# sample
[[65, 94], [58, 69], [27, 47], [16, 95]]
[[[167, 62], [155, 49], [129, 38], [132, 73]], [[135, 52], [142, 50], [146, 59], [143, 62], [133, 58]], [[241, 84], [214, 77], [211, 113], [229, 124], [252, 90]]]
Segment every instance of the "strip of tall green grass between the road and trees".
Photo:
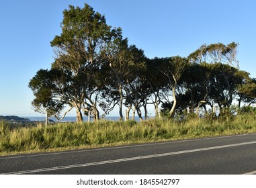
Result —
[[152, 119], [144, 122], [58, 123], [48, 127], [13, 128], [0, 122], [0, 155], [115, 146], [256, 132], [255, 115], [226, 118], [189, 118], [181, 122]]

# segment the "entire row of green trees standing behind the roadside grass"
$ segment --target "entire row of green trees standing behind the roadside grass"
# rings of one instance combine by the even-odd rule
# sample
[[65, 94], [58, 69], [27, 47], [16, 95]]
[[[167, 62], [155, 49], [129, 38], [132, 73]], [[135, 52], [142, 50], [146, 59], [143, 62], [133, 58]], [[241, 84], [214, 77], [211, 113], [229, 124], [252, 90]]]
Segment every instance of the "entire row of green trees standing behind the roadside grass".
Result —
[[206, 114], [235, 100], [239, 107], [256, 102], [256, 82], [239, 70], [236, 42], [204, 44], [187, 57], [150, 59], [87, 4], [65, 9], [60, 27], [62, 32], [50, 42], [55, 52], [50, 70], [41, 69], [29, 83], [32, 106], [41, 113], [60, 119], [69, 106], [65, 114], [75, 108], [77, 122], [83, 122], [83, 113], [97, 121], [119, 105], [120, 120], [127, 107], [142, 121], [141, 108], [146, 118], [150, 104], [156, 117], [160, 104], [173, 117], [187, 107]]

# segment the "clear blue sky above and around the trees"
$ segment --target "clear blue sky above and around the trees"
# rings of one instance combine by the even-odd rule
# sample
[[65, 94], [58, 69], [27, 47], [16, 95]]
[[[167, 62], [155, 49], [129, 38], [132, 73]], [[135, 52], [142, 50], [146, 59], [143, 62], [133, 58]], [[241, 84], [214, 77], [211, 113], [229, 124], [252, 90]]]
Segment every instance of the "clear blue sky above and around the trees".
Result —
[[148, 58], [188, 56], [202, 44], [237, 42], [241, 70], [256, 77], [254, 0], [1, 0], [0, 115], [40, 115], [31, 107], [28, 82], [54, 60], [50, 41], [60, 34], [62, 11], [84, 3], [110, 26], [121, 27], [129, 44]]

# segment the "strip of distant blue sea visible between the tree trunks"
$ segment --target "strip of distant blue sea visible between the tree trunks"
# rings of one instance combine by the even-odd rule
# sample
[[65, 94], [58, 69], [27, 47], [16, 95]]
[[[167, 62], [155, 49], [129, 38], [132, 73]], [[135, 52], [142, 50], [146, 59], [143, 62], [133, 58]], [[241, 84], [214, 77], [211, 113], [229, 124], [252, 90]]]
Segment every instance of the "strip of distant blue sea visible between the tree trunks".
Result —
[[[45, 121], [44, 116], [31, 116], [31, 117], [26, 116], [26, 117], [21, 117], [21, 118], [28, 118], [30, 121]], [[75, 116], [67, 116], [61, 121], [58, 121], [56, 118], [49, 118], [49, 119], [53, 120], [54, 122], [77, 122], [77, 117], [75, 117]], [[105, 118], [103, 118], [103, 120], [118, 121], [119, 116], [105, 116]], [[131, 120], [131, 117], [130, 117], [130, 120]], [[135, 120], [139, 121], [140, 119], [138, 117], [135, 117]], [[83, 116], [83, 121], [87, 122], [88, 117]], [[93, 119], [91, 119], [91, 122], [93, 122]]]

